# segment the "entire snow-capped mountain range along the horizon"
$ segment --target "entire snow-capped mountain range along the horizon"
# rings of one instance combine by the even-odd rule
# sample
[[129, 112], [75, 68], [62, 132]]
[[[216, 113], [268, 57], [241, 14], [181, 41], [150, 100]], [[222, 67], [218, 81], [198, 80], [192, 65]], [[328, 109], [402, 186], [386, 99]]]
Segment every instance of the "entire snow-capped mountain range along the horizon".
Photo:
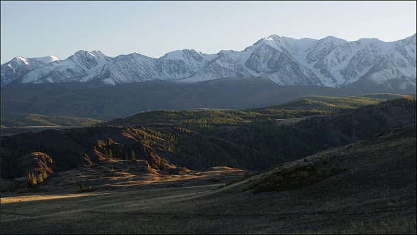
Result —
[[194, 84], [223, 77], [266, 77], [282, 86], [396, 86], [416, 89], [416, 34], [395, 42], [348, 42], [271, 35], [243, 51], [172, 51], [155, 59], [138, 53], [110, 58], [78, 51], [65, 60], [16, 57], [1, 64], [1, 86], [12, 82], [102, 82], [116, 85], [155, 80]]

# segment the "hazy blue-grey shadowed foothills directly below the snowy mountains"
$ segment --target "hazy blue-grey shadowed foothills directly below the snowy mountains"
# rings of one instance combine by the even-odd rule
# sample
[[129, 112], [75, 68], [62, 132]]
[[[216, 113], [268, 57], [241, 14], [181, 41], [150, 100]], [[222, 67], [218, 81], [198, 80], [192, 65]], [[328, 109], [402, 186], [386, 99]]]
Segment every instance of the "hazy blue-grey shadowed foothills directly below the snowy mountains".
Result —
[[309, 95], [351, 97], [370, 92], [393, 91], [278, 86], [262, 78], [224, 78], [186, 86], [169, 81], [117, 86], [76, 82], [9, 84], [1, 88], [1, 117], [16, 119], [40, 114], [112, 120], [148, 110], [242, 109], [271, 106]]

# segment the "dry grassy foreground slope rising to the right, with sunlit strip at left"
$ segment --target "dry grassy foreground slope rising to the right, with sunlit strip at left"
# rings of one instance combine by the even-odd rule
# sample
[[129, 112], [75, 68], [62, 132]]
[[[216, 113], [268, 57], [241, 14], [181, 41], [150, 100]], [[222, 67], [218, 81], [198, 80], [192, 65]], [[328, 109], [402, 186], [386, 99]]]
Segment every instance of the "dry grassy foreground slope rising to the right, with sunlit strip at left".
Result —
[[[415, 234], [416, 138], [416, 123], [394, 127], [221, 187], [208, 179], [215, 175], [222, 183], [237, 171], [140, 179], [105, 165], [74, 170], [72, 175], [51, 177], [37, 193], [3, 193], [0, 233]], [[284, 171], [295, 173], [299, 182], [317, 175], [305, 166], [321, 169], [323, 175], [343, 171], [280, 190], [278, 184], [289, 182], [283, 177], [276, 188], [255, 192]], [[301, 174], [300, 169], [308, 172]], [[60, 194], [107, 170], [108, 177], [91, 181], [99, 188], [93, 193]], [[119, 184], [109, 191], [104, 186], [112, 182]], [[47, 200], [47, 206], [38, 200]]]

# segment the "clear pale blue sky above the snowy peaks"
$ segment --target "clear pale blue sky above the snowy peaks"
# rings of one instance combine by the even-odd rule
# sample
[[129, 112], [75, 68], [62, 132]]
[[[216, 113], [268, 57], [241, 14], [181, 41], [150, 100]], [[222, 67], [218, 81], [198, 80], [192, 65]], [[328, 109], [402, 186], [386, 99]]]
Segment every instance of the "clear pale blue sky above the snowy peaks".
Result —
[[243, 51], [272, 34], [385, 42], [416, 34], [416, 1], [1, 1], [1, 64], [102, 51]]

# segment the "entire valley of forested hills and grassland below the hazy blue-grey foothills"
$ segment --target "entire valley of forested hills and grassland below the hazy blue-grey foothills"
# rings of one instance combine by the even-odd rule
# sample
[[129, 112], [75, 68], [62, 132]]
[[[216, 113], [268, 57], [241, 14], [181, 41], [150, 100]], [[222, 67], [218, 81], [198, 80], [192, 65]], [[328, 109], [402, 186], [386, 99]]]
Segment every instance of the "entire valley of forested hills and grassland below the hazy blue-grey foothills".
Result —
[[0, 234], [414, 233], [416, 120], [384, 93], [1, 136]]

